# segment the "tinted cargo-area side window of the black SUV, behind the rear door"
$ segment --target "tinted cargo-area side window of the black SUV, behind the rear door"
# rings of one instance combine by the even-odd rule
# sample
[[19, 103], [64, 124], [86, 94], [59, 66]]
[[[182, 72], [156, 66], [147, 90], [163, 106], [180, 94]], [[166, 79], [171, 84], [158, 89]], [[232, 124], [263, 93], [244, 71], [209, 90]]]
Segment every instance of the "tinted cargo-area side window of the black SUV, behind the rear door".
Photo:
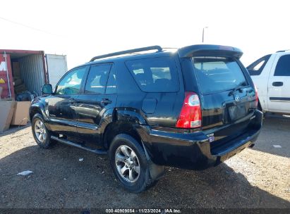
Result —
[[143, 92], [177, 92], [179, 77], [172, 58], [146, 58], [126, 65]]

